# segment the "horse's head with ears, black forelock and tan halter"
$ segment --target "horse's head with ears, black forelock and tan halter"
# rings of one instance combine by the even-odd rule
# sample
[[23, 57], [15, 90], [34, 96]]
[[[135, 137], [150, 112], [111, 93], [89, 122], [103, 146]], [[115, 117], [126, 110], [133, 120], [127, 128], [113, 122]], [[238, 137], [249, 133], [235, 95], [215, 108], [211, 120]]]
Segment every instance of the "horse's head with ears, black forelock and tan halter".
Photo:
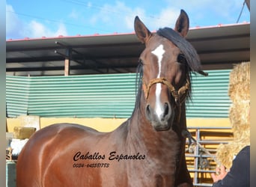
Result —
[[138, 16], [134, 25], [138, 40], [145, 44], [140, 56], [145, 116], [156, 131], [168, 130], [179, 120], [180, 107], [190, 91], [189, 71], [205, 75], [195, 49], [184, 39], [189, 17], [181, 10], [174, 30], [160, 28], [156, 33]]

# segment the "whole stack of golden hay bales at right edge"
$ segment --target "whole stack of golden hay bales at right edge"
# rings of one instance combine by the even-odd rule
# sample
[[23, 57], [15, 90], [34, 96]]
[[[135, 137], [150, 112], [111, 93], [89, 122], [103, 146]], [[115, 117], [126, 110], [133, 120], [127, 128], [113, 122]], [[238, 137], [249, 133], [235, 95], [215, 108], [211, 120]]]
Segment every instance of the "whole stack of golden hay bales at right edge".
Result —
[[250, 62], [238, 64], [231, 71], [228, 94], [233, 101], [229, 119], [234, 141], [219, 145], [216, 160], [219, 165], [230, 169], [234, 156], [250, 145]]

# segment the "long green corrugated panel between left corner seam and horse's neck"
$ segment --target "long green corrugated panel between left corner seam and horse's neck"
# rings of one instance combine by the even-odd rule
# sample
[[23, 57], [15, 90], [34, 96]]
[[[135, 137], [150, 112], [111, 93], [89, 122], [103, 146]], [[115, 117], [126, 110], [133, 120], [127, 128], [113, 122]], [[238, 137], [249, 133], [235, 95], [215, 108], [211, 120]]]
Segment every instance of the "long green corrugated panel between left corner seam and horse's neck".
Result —
[[28, 77], [28, 114], [42, 117], [129, 117], [135, 74]]

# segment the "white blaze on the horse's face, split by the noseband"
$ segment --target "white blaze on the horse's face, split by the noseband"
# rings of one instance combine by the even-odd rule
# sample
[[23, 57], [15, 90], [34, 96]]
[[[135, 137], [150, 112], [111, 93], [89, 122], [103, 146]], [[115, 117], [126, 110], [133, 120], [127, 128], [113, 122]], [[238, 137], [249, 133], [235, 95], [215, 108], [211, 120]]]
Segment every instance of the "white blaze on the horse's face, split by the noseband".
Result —
[[[161, 74], [161, 63], [162, 63], [162, 56], [165, 53], [165, 49], [163, 49], [162, 44], [159, 45], [158, 47], [156, 47], [155, 50], [152, 51], [153, 55], [156, 55], [157, 59], [158, 59], [158, 75], [157, 78], [160, 77]], [[161, 93], [161, 89], [162, 89], [162, 84], [161, 83], [156, 83], [156, 114], [157, 116], [160, 118], [161, 114], [163, 113], [162, 111], [162, 107], [160, 105], [160, 93]]]

